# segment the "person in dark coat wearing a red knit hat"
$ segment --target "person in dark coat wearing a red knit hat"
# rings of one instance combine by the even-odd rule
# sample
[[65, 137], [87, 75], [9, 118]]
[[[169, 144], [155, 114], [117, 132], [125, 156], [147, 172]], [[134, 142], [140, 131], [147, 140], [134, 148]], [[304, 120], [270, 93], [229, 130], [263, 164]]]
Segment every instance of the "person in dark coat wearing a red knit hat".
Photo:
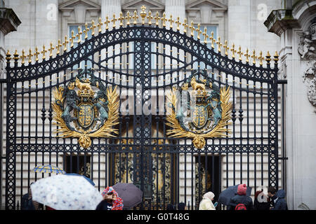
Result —
[[230, 199], [229, 210], [235, 210], [237, 204], [244, 204], [247, 210], [254, 210], [254, 204], [251, 197], [246, 195], [246, 190], [247, 186], [245, 183], [239, 184], [237, 194]]

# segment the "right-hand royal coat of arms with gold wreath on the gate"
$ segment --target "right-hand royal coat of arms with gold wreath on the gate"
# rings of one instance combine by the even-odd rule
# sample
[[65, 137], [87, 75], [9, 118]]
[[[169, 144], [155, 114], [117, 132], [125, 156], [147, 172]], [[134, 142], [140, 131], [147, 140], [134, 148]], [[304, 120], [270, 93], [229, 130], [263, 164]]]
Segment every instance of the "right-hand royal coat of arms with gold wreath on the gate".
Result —
[[[202, 80], [195, 76], [201, 75]], [[218, 87], [206, 73], [196, 73], [180, 87], [166, 95], [166, 134], [175, 138], [192, 138], [196, 148], [203, 148], [207, 138], [227, 137], [231, 131], [232, 103], [229, 87]]]

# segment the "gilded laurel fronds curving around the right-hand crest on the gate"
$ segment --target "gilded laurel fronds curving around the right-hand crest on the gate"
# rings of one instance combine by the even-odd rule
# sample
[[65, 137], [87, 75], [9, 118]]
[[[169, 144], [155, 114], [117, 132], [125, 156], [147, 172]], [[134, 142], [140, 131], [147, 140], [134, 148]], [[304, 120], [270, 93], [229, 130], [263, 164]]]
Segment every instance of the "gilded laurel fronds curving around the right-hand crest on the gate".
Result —
[[[198, 133], [195, 130], [187, 130], [183, 128], [183, 125], [180, 124], [179, 119], [177, 118], [177, 113], [175, 109], [178, 105], [179, 96], [176, 93], [177, 90], [171, 90], [169, 94], [167, 94], [167, 123], [171, 127], [171, 130], [167, 130], [167, 134], [170, 137], [175, 138], [192, 138], [192, 143], [196, 148], [203, 148], [206, 144], [206, 138], [216, 138], [216, 137], [228, 137], [227, 133], [231, 133], [231, 131], [227, 128], [228, 125], [232, 124], [230, 122], [231, 119], [231, 110], [232, 103], [229, 102], [230, 99], [230, 87], [221, 87], [220, 88], [220, 106], [221, 106], [221, 119], [218, 120], [218, 123], [213, 129], [208, 132]], [[172, 105], [172, 106], [171, 106]]]

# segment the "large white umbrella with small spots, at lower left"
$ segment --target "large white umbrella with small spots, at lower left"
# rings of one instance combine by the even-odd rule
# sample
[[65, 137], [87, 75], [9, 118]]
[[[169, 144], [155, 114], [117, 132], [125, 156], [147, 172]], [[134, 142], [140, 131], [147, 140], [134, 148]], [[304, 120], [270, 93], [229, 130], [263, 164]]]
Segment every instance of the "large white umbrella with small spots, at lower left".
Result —
[[32, 199], [56, 210], [95, 210], [101, 193], [83, 176], [55, 175], [31, 185]]

